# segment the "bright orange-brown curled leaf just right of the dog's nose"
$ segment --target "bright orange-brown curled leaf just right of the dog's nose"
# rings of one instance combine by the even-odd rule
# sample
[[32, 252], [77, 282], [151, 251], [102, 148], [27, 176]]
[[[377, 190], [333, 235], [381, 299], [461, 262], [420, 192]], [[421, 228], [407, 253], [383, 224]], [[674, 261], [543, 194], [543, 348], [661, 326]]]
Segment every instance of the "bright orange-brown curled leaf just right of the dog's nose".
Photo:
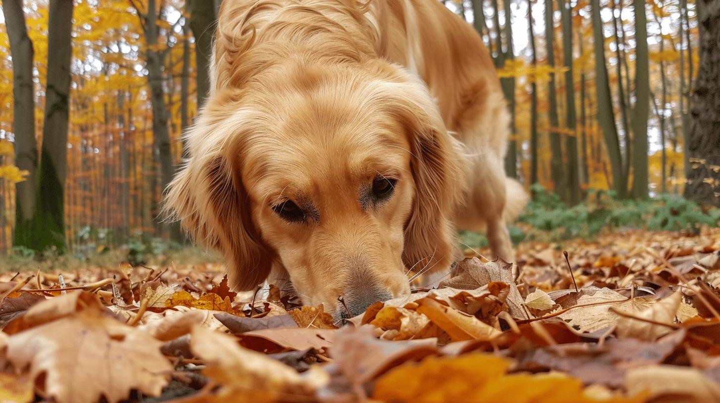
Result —
[[417, 303], [417, 312], [430, 318], [435, 325], [450, 335], [453, 341], [492, 340], [502, 333], [476, 317], [457, 312], [434, 299], [423, 298]]

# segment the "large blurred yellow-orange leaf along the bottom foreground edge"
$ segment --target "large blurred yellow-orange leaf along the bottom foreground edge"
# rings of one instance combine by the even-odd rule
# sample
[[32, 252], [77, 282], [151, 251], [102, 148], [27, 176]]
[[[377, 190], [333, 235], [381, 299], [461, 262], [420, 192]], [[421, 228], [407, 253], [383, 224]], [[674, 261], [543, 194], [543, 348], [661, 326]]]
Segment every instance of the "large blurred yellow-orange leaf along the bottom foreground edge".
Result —
[[510, 362], [490, 354], [429, 357], [382, 376], [373, 391], [381, 402], [634, 403], [603, 389], [584, 389], [563, 373], [507, 374]]

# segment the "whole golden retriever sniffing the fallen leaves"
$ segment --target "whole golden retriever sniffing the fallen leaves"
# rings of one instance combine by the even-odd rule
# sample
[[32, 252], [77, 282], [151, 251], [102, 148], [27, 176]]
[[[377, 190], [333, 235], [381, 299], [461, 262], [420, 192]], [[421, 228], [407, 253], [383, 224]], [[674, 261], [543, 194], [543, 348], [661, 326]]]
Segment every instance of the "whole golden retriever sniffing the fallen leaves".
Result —
[[211, 64], [165, 208], [235, 289], [292, 284], [347, 318], [447, 271], [457, 229], [513, 261], [505, 99], [438, 0], [225, 0]]

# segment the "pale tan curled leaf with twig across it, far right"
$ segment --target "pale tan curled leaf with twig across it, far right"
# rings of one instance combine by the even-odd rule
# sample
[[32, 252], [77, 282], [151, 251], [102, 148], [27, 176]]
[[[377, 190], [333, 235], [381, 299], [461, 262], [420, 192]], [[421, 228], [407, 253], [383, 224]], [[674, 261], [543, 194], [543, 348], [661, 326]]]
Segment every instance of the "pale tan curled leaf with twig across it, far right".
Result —
[[[672, 295], [665, 299], [652, 304], [652, 307], [644, 309], [640, 312], [628, 312], [635, 317], [652, 320], [653, 322], [667, 323], [672, 325], [675, 320], [675, 312], [678, 312], [680, 301], [683, 299], [683, 293], [675, 291]], [[611, 309], [618, 309], [611, 307]], [[654, 341], [662, 335], [672, 332], [672, 327], [656, 325], [650, 322], [633, 319], [631, 317], [618, 317], [615, 332], [618, 338], [636, 338], [639, 340]]]

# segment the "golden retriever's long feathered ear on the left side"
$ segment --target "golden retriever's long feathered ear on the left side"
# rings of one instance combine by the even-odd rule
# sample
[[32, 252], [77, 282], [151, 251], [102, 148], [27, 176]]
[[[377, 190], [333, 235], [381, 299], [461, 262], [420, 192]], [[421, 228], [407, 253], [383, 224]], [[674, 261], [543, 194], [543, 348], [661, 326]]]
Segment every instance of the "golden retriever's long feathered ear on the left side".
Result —
[[192, 239], [220, 250], [234, 289], [255, 289], [268, 276], [271, 253], [253, 226], [240, 178], [242, 111], [233, 94], [216, 93], [186, 133], [190, 158], [166, 189], [163, 213]]

